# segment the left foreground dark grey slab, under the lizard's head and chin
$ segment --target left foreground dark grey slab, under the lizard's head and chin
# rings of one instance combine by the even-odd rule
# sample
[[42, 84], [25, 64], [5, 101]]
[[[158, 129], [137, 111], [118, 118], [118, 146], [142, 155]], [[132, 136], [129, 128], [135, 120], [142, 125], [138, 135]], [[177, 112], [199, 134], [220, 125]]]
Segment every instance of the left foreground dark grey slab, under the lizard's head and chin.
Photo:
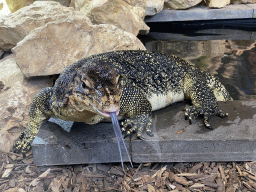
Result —
[[[130, 139], [125, 139], [130, 152]], [[121, 145], [122, 152], [125, 151]], [[71, 131], [53, 122], [45, 123], [32, 144], [34, 164], [67, 165], [120, 162], [112, 123], [74, 123]], [[123, 161], [129, 161], [126, 153]]]

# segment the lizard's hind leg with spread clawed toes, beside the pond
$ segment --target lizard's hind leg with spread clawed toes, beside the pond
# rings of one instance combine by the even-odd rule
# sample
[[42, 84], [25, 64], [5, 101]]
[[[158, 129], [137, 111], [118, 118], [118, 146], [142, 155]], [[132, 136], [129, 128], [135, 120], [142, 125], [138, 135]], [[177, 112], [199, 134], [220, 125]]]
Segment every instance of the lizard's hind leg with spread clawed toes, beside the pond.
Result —
[[[211, 80], [211, 81], [210, 81]], [[185, 119], [189, 119], [189, 123], [198, 116], [203, 116], [203, 122], [206, 128], [212, 129], [209, 118], [212, 115], [220, 117], [228, 116], [227, 113], [219, 110], [217, 101], [222, 96], [222, 100], [232, 99], [225, 87], [219, 81], [214, 81], [214, 77], [200, 70], [196, 73], [188, 73], [184, 80], [185, 94], [192, 101], [192, 106], [188, 107], [185, 112]], [[218, 86], [216, 86], [216, 84]], [[218, 93], [220, 94], [217, 94]]]

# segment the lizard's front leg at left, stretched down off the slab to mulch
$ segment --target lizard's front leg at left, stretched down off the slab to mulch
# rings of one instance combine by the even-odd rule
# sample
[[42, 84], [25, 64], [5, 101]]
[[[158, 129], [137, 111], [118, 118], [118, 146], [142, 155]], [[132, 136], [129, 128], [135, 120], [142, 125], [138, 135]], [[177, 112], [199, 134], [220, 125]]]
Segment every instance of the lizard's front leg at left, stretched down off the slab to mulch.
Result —
[[52, 115], [49, 103], [51, 96], [52, 88], [47, 87], [34, 97], [30, 106], [28, 126], [14, 143], [14, 152], [26, 153], [30, 149], [43, 121]]

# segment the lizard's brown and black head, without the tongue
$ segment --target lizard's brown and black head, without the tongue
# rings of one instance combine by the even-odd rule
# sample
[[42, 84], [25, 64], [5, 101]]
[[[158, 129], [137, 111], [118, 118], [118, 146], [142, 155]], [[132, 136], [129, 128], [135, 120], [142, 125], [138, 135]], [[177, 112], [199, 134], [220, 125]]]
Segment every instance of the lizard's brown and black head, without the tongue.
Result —
[[120, 75], [106, 65], [83, 66], [75, 77], [73, 94], [90, 111], [110, 118], [109, 112], [119, 114], [122, 86]]

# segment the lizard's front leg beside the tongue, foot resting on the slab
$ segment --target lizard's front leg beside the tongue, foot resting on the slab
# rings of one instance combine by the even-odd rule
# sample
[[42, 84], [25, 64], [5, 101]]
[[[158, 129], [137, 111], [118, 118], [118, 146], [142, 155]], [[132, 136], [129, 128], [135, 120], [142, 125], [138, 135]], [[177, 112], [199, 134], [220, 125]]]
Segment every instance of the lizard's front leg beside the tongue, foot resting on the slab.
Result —
[[126, 135], [130, 135], [132, 132], [137, 132], [137, 137], [143, 139], [142, 133], [146, 130], [147, 134], [152, 134], [152, 107], [147, 100], [143, 92], [135, 86], [124, 86], [123, 93], [120, 100], [120, 111], [128, 119], [124, 120], [122, 125], [122, 131], [126, 132]]

